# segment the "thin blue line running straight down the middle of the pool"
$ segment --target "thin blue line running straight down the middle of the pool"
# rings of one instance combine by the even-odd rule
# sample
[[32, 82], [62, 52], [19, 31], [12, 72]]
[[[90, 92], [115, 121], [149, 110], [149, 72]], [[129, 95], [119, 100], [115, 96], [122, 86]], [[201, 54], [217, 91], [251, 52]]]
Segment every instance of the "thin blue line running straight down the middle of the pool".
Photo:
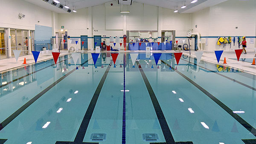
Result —
[[122, 118], [122, 144], [125, 144], [125, 54], [124, 54], [124, 95], [123, 95], [123, 118]]

